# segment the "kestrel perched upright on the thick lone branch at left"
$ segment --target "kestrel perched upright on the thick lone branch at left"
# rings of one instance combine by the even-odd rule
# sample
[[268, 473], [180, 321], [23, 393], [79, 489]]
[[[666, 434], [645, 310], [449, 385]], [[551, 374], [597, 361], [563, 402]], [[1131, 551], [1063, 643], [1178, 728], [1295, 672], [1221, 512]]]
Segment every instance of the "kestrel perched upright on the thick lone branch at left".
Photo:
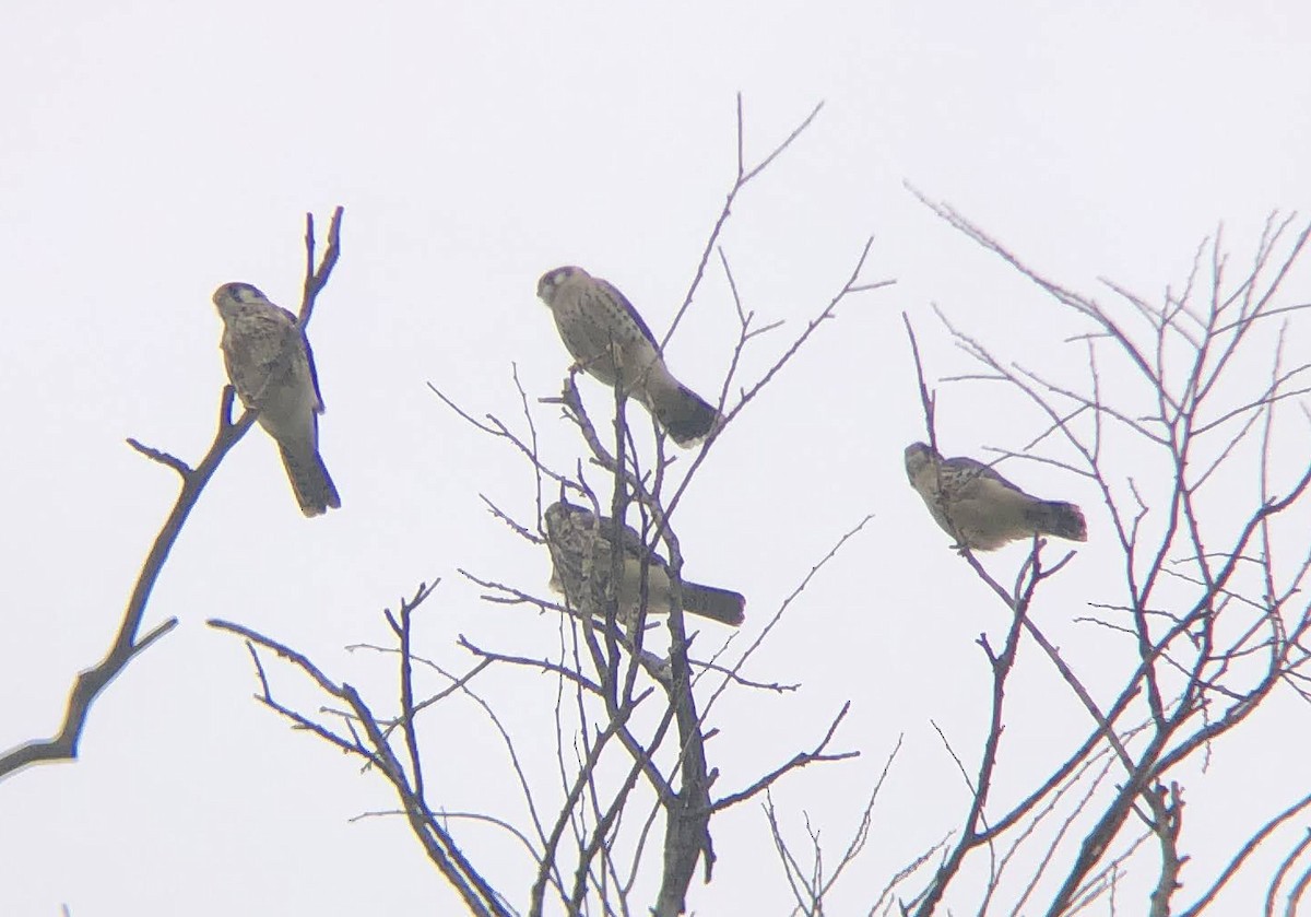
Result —
[[274, 306], [249, 283], [214, 291], [223, 319], [223, 362], [241, 403], [260, 412], [260, 426], [282, 451], [291, 489], [305, 516], [341, 506], [319, 455], [319, 395], [315, 356], [296, 316]]

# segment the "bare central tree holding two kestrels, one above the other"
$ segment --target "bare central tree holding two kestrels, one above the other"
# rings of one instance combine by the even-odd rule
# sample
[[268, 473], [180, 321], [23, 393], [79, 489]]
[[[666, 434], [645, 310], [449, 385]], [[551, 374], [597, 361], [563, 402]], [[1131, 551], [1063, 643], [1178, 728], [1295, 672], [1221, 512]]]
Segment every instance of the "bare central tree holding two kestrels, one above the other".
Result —
[[[648, 621], [650, 567], [646, 560], [642, 561], [636, 621], [625, 621], [619, 614], [612, 590], [604, 600], [583, 598], [574, 605], [569, 598], [557, 601], [531, 594], [481, 571], [460, 571], [479, 584], [489, 602], [522, 607], [524, 614], [556, 617], [558, 645], [524, 656], [479, 645], [461, 636], [459, 645], [471, 661], [459, 673], [447, 672], [431, 660], [433, 653], [421, 651], [413, 640], [416, 613], [435, 586], [421, 585], [396, 613], [385, 613], [395, 643], [374, 647], [395, 659], [400, 690], [395, 699], [367, 701], [346, 681], [326, 674], [292, 647], [239, 623], [211, 622], [246, 640], [264, 704], [296, 727], [357, 756], [393, 787], [399, 815], [472, 913], [507, 914], [520, 909], [530, 914], [632, 913], [635, 908], [657, 914], [683, 913], [697, 871], [707, 880], [712, 875], [716, 859], [712, 829], [717, 813], [764, 799], [770, 787], [797, 769], [856, 754], [834, 749], [847, 706], [838, 710], [826, 727], [800, 732], [796, 736], [800, 750], [794, 756], [777, 761], [756, 779], [737, 787], [724, 788], [717, 782], [718, 770], [707, 740], [721, 733], [711, 725], [711, 718], [726, 691], [793, 690], [789, 685], [751, 682], [742, 676], [743, 665], [801, 596], [810, 577], [864, 527], [868, 517], [836, 540], [772, 618], [753, 628], [754, 638], [745, 645], [741, 645], [746, 640], [742, 636], [726, 640], [708, 656], [695, 653], [694, 642], [700, 648], [712, 638], [704, 631], [700, 640], [696, 634], [688, 634], [679, 588], [683, 555], [676, 537], [678, 509], [697, 471], [713, 460], [716, 443], [733, 434], [734, 420], [762, 397], [823, 325], [838, 317], [839, 307], [848, 298], [889, 283], [861, 279], [872, 248], [872, 240], [865, 241], [846, 281], [836, 285], [835, 293], [826, 294], [806, 324], [779, 346], [770, 367], [746, 384], [739, 382], [743, 353], [767, 346], [775, 340], [767, 335], [779, 331], [783, 323], [762, 324], [742, 302], [720, 244], [721, 231], [743, 189], [787, 151], [818, 113], [817, 106], [776, 148], [758, 164], [749, 165], [741, 100], [738, 102], [737, 174], [694, 270], [688, 293], [665, 336], [667, 342], [691, 307], [711, 260], [717, 258], [732, 291], [738, 336], [718, 394], [717, 407], [724, 422], [690, 458], [675, 462], [667, 451], [665, 434], [638, 422], [641, 415], [629, 409], [625, 392], [619, 388], [612, 397], [589, 409], [577, 370], [565, 378], [560, 396], [538, 397], [536, 401], [523, 390], [515, 373], [523, 408], [523, 420], [518, 424], [492, 415], [475, 416], [434, 387], [459, 417], [522, 457], [526, 472], [532, 475], [536, 500], [527, 513], [502, 509], [484, 496], [488, 509], [506, 523], [506, 538], [522, 538], [547, 551], [540, 522], [545, 505], [555, 495], [568, 495], [574, 502], [591, 506], [598, 517], [614, 520], [615, 529], [607, 533], [616, 546], [608, 581], [617, 582], [624, 563], [617, 547], [621, 543], [617, 526], [628, 521], [640, 530], [648, 551], [669, 559], [674, 585], [667, 615], [657, 618], [653, 614]], [[606, 415], [604, 421], [599, 420], [600, 413]], [[538, 449], [538, 428], [544, 422], [540, 415], [548, 417], [545, 422], [562, 421], [577, 432], [579, 445], [573, 467], [552, 467], [543, 459]], [[585, 573], [585, 579], [587, 576]], [[283, 694], [273, 686], [266, 661], [269, 653], [311, 680], [328, 703], [319, 711], [307, 711], [284, 702]], [[502, 712], [473, 693], [489, 678], [514, 680], [522, 690], [555, 697], [553, 756], [526, 752], [526, 748], [541, 746], [531, 737], [514, 735]], [[426, 733], [423, 741], [420, 725], [429, 711], [452, 694], [471, 697], [481, 704], [489, 723], [502, 736], [527, 817], [515, 821], [486, 811], [458, 813], [434, 807], [434, 787], [426, 778], [431, 767], [425, 766], [425, 758], [438, 754], [440, 743], [431, 733]], [[722, 727], [724, 735], [714, 748], [732, 741], [733, 732]], [[538, 788], [541, 775], [556, 783], [553, 794]], [[493, 886], [486, 865], [473, 862], [464, 853], [456, 826], [468, 819], [496, 824], [531, 854], [534, 867], [522, 888], [511, 891], [503, 879]]]

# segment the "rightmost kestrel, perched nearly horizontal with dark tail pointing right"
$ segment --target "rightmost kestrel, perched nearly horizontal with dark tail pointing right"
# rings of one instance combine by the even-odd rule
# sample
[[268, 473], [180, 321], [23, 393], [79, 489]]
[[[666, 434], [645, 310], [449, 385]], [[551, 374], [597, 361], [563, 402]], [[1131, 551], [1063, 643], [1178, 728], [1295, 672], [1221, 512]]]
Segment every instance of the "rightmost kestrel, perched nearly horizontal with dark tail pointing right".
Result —
[[957, 547], [994, 551], [1034, 534], [1088, 540], [1083, 512], [1072, 502], [1030, 497], [971, 458], [944, 459], [916, 442], [906, 447], [906, 476]]

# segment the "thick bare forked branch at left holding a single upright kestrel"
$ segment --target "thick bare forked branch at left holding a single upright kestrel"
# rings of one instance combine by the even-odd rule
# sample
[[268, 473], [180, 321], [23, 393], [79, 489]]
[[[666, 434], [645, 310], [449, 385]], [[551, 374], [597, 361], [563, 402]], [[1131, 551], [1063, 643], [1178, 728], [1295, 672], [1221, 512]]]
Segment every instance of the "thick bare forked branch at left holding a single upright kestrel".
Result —
[[[324, 249], [323, 257], [319, 258], [315, 243], [313, 214], [305, 215], [305, 281], [299, 312], [302, 327], [308, 324], [309, 316], [313, 312], [315, 299], [328, 283], [332, 269], [341, 255], [341, 216], [342, 209], [337, 207], [328, 228], [328, 247]], [[139, 653], [144, 652], [177, 626], [177, 618], [169, 618], [152, 627], [144, 635], [140, 632], [151, 590], [155, 588], [155, 582], [159, 580], [160, 572], [168, 561], [168, 555], [173, 550], [173, 544], [182, 534], [182, 527], [186, 525], [191, 509], [195, 508], [206, 484], [210, 483], [214, 472], [218, 471], [219, 463], [223, 462], [228, 451], [237, 445], [256, 421], [257, 415], [254, 411], [244, 411], [240, 417], [233, 420], [233, 399], [235, 391], [232, 386], [225, 386], [219, 397], [219, 420], [218, 429], [214, 433], [214, 442], [210, 443], [208, 450], [206, 450], [195, 467], [191, 467], [170, 453], [152, 449], [136, 439], [127, 441], [132, 449], [146, 458], [177, 472], [181, 479], [177, 500], [174, 500], [173, 508], [160, 526], [159, 534], [155, 535], [155, 543], [146, 555], [142, 572], [136, 577], [131, 596], [128, 596], [127, 607], [123, 611], [123, 618], [118, 624], [118, 631], [110, 643], [109, 651], [100, 662], [84, 669], [73, 680], [72, 687], [68, 691], [68, 702], [64, 706], [64, 718], [59, 732], [50, 739], [34, 739], [22, 743], [0, 754], [0, 779], [17, 774], [29, 765], [75, 760], [77, 757], [77, 741], [81, 737], [83, 728], [87, 725], [92, 703], [100, 697], [100, 693]]]

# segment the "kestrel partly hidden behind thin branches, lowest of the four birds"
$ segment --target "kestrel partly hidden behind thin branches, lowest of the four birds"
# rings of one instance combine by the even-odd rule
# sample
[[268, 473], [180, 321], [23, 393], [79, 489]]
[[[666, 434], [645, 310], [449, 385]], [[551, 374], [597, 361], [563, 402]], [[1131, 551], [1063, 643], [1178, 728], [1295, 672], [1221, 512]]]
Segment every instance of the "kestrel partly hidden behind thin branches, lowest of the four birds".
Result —
[[[547, 546], [551, 548], [551, 588], [562, 594], [573, 609], [604, 611], [606, 588], [610, 585], [611, 537], [614, 520], [597, 517], [590, 509], [568, 502], [547, 508]], [[620, 529], [624, 552], [624, 575], [616, 589], [619, 617], [637, 619], [641, 603], [642, 558], [646, 558], [646, 609], [669, 614], [669, 563], [652, 552], [631, 526]], [[587, 571], [591, 596], [583, 596], [583, 559], [591, 554]], [[683, 610], [713, 618], [734, 627], [742, 623], [746, 598], [739, 593], [696, 582], [683, 582]]]

